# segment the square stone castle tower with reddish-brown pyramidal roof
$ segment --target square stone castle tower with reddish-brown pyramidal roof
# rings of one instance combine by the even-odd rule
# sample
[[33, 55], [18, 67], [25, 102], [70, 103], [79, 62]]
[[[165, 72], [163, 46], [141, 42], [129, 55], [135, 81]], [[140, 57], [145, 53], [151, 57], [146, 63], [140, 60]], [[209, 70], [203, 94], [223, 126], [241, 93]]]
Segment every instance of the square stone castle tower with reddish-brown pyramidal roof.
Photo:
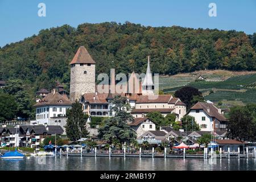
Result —
[[84, 46], [71, 61], [70, 100], [79, 101], [85, 93], [95, 93], [95, 61]]

